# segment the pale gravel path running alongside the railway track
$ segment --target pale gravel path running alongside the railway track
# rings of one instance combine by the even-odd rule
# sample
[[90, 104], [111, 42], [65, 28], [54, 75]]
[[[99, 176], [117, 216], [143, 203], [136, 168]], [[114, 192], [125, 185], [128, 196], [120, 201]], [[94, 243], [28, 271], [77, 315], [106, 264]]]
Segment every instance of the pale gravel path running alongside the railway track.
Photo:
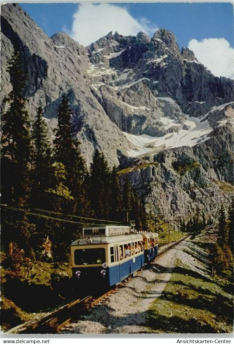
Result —
[[[196, 259], [189, 254], [193, 249], [190, 237], [141, 271], [126, 287], [111, 295], [105, 304], [97, 305], [76, 323], [71, 323], [60, 333], [107, 334], [147, 332], [146, 317], [150, 304], [160, 297], [171, 278], [175, 261], [184, 261], [193, 270], [200, 269]], [[203, 271], [205, 274], [205, 271]]]

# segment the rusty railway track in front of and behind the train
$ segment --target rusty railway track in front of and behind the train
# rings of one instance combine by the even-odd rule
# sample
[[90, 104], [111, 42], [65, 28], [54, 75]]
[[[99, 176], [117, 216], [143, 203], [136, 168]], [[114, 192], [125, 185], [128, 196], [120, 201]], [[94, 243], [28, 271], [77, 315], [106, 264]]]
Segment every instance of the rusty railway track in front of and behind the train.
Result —
[[[174, 246], [177, 246], [181, 243], [181, 241], [188, 238], [189, 235], [183, 237], [182, 239], [176, 241], [172, 245], [168, 246], [166, 249], [162, 250], [153, 260], [153, 262], [157, 261], [161, 256], [166, 254], [170, 249], [172, 249]], [[152, 262], [151, 262], [152, 263]], [[127, 281], [129, 281], [132, 277], [129, 277]], [[63, 327], [71, 323], [74, 319], [77, 319], [77, 316], [79, 314], [82, 314], [83, 312], [87, 311], [90, 308], [95, 307], [95, 305], [105, 302], [108, 297], [116, 293], [118, 289], [123, 288], [127, 283], [121, 282], [118, 284], [115, 288], [107, 291], [105, 294], [93, 298], [92, 296], [86, 296], [82, 299], [74, 300], [65, 306], [61, 307], [60, 309], [50, 313], [49, 315], [42, 318], [40, 321], [35, 323], [24, 323], [17, 327], [14, 327], [13, 329], [9, 330], [6, 333], [18, 333], [18, 334], [47, 334], [47, 333], [57, 333], [60, 331]]]

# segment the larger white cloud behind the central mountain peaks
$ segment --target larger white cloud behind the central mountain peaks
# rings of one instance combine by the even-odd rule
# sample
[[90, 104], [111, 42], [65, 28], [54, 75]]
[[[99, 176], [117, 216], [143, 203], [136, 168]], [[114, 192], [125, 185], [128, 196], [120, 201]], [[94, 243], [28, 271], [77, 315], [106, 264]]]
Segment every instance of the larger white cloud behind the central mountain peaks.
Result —
[[136, 35], [139, 31], [152, 34], [156, 30], [157, 27], [152, 26], [147, 19], [137, 20], [131, 17], [126, 8], [108, 3], [82, 3], [73, 15], [70, 35], [87, 46], [110, 31]]

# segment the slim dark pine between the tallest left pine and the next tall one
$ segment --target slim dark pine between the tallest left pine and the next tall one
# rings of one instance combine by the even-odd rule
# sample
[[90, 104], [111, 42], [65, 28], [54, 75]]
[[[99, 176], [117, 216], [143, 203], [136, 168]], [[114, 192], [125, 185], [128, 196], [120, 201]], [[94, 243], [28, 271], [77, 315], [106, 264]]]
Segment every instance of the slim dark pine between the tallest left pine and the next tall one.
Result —
[[38, 108], [37, 117], [33, 123], [33, 188], [32, 203], [36, 206], [43, 204], [43, 193], [49, 187], [51, 166], [51, 150], [48, 139], [48, 128], [42, 117], [42, 108]]

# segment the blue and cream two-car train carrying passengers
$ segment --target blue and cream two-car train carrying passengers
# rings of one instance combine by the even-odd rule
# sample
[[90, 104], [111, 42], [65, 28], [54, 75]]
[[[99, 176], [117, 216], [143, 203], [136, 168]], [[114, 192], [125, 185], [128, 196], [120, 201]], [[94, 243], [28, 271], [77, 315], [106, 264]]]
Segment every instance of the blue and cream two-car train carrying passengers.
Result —
[[86, 227], [71, 244], [72, 276], [82, 289], [108, 289], [157, 255], [157, 233], [136, 233], [129, 226]]

